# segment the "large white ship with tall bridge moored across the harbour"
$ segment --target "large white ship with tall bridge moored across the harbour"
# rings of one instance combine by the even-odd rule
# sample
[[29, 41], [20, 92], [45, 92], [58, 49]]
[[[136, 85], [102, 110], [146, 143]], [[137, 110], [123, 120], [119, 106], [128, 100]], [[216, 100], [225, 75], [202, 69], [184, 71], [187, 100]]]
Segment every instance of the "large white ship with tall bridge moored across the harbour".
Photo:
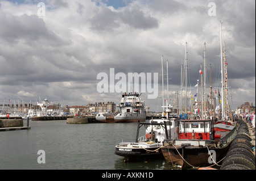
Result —
[[119, 107], [121, 112], [114, 116], [115, 123], [133, 123], [146, 120], [146, 108], [141, 94], [130, 92], [123, 94]]

